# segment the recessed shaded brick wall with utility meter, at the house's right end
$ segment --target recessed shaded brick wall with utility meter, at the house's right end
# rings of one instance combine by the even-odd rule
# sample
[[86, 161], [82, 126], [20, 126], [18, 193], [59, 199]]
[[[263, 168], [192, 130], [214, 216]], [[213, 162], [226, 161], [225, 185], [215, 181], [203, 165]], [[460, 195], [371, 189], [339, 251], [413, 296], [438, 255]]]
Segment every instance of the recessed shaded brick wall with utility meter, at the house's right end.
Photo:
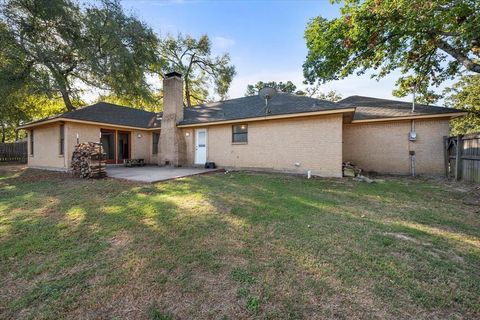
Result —
[[410, 174], [409, 151], [413, 150], [417, 174], [442, 175], [448, 119], [415, 120], [415, 142], [408, 141], [410, 130], [411, 121], [347, 124], [343, 130], [343, 160], [367, 171]]

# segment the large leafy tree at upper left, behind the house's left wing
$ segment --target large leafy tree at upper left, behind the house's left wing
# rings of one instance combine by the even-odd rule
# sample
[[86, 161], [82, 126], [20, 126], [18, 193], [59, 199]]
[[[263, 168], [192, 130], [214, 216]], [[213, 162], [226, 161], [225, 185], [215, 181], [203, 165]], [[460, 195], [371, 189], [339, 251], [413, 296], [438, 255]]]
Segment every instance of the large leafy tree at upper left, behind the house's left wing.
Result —
[[21, 56], [24, 76], [44, 94], [60, 95], [68, 110], [81, 92], [92, 89], [127, 98], [151, 95], [146, 79], [160, 71], [158, 39], [117, 0], [99, 6], [6, 0], [0, 18], [9, 40], [5, 54]]

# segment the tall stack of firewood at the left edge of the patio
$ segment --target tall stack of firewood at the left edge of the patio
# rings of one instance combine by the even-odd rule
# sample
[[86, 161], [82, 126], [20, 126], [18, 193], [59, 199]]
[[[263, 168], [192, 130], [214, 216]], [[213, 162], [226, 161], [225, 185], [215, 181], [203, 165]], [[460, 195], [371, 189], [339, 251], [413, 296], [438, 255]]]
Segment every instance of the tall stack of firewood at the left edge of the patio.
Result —
[[104, 178], [107, 176], [106, 158], [102, 144], [79, 143], [72, 154], [72, 173], [80, 178]]

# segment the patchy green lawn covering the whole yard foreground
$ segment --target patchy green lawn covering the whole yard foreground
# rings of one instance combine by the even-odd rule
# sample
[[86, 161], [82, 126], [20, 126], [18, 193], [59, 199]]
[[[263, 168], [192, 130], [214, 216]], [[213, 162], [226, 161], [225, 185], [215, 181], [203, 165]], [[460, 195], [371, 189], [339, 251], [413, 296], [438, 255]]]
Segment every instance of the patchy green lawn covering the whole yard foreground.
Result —
[[456, 184], [6, 168], [1, 319], [480, 317], [480, 209]]

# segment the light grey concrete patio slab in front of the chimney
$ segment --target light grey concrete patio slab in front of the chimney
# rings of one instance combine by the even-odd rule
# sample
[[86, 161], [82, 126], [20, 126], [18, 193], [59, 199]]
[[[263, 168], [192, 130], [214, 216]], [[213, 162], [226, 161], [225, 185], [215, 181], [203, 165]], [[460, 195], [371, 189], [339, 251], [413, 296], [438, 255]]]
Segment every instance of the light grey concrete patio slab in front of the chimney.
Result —
[[193, 176], [207, 172], [216, 171], [217, 169], [203, 168], [171, 168], [158, 166], [145, 167], [124, 167], [124, 166], [107, 166], [107, 176], [116, 179], [125, 179], [139, 182], [159, 182], [182, 177]]

